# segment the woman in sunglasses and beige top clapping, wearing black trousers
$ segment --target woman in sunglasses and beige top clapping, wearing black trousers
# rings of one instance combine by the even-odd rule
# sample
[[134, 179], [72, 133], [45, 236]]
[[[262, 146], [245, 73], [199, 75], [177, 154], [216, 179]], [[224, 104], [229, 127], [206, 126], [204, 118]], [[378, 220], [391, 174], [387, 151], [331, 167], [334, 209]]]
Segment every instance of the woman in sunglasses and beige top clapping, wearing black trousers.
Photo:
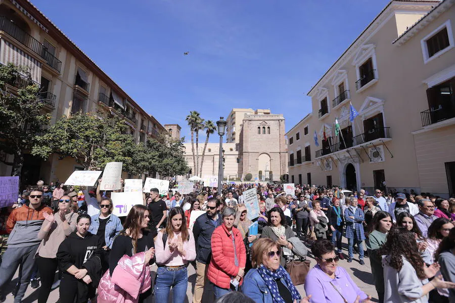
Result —
[[48, 301], [58, 267], [57, 250], [63, 240], [76, 230], [76, 220], [79, 215], [73, 213], [70, 208], [71, 198], [64, 195], [58, 201], [56, 214], [43, 212], [44, 222], [38, 232], [38, 239], [41, 240], [41, 243], [35, 255], [36, 266], [41, 277], [38, 303]]

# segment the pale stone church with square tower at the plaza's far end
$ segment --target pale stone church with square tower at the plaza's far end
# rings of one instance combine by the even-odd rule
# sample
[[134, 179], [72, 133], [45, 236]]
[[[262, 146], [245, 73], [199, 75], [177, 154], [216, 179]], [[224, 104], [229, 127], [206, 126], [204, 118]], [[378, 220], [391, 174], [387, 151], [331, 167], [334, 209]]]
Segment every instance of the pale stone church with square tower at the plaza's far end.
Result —
[[[245, 180], [246, 174], [251, 174], [252, 181], [274, 181], [287, 173], [285, 119], [282, 114], [271, 114], [270, 110], [233, 109], [226, 122], [227, 142], [222, 147], [225, 179], [241, 181]], [[217, 136], [217, 133], [212, 136]], [[186, 160], [194, 171], [192, 144], [184, 145]], [[199, 165], [203, 149], [204, 142], [199, 143]], [[219, 143], [208, 143], [202, 177], [218, 175], [218, 159]]]

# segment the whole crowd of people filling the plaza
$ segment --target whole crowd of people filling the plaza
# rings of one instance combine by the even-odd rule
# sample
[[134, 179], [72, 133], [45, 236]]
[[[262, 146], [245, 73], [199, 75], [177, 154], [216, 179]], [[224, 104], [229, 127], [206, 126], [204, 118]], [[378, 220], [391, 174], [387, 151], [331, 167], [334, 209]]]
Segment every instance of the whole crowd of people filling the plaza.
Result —
[[[339, 265], [354, 255], [360, 266], [370, 259], [380, 302], [455, 302], [454, 198], [309, 184], [292, 193], [273, 183], [224, 184], [219, 191], [196, 184], [188, 194], [152, 188], [119, 218], [100, 181], [94, 188], [38, 183], [2, 209], [0, 228], [9, 236], [0, 302], [19, 268], [15, 302], [31, 284], [39, 287], [38, 303], [57, 287], [63, 303], [167, 302], [171, 290], [174, 303], [202, 302], [211, 290], [217, 302], [368, 303], [371, 296]], [[259, 213], [248, 216], [243, 192], [252, 188]], [[203, 212], [193, 223], [194, 211]], [[297, 282], [293, 266], [310, 257], [316, 265], [298, 272], [306, 279]], [[196, 271], [192, 298], [188, 266]]]

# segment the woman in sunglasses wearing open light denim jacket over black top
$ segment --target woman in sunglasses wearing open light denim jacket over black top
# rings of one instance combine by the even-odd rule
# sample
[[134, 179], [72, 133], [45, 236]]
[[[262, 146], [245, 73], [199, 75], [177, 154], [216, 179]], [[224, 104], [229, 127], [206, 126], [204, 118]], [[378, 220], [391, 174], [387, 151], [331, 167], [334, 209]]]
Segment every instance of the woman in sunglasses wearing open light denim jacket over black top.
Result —
[[114, 205], [111, 198], [104, 198], [100, 203], [100, 213], [92, 216], [92, 224], [88, 231], [97, 235], [102, 239], [103, 254], [102, 254], [102, 271], [104, 272], [109, 268], [109, 251], [112, 248], [114, 237], [118, 235], [122, 229], [120, 219], [112, 214]]

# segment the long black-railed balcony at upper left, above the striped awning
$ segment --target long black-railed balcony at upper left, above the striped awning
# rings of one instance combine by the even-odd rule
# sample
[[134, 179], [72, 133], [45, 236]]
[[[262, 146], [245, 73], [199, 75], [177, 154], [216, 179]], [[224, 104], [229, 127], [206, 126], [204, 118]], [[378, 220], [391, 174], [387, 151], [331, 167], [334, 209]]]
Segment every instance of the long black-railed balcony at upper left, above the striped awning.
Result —
[[38, 40], [30, 36], [27, 32], [21, 29], [19, 26], [8, 20], [5, 16], [0, 16], [0, 30], [3, 30], [20, 43], [25, 45], [30, 51], [41, 57], [46, 63], [58, 71], [62, 68], [62, 62], [55, 56], [48, 52], [48, 49], [42, 45]]

